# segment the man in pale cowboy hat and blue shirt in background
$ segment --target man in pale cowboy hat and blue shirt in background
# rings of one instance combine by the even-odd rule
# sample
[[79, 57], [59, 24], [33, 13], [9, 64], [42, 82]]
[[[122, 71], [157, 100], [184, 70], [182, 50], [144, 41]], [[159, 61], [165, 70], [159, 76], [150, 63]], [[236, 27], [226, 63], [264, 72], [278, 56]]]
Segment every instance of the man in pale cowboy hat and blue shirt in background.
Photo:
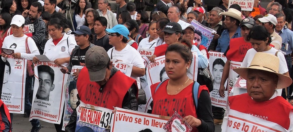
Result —
[[241, 37], [239, 24], [242, 21], [242, 17], [241, 12], [234, 8], [230, 8], [228, 11], [222, 12], [220, 15], [226, 16], [224, 21], [226, 30], [222, 32], [220, 38], [218, 39], [216, 51], [224, 53], [229, 46], [231, 38]]

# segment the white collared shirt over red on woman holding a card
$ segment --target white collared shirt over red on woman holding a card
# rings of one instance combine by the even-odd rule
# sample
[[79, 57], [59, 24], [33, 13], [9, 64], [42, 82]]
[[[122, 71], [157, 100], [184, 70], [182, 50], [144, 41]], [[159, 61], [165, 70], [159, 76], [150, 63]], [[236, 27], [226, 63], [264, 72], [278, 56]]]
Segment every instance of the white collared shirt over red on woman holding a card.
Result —
[[[57, 43], [56, 46], [54, 45], [52, 38], [49, 39], [45, 45], [44, 55], [46, 55], [51, 61], [54, 61], [58, 58], [70, 57], [72, 50], [76, 46], [76, 41], [73, 37], [67, 35], [66, 33], [62, 34], [63, 38], [59, 41], [59, 43]], [[64, 63], [63, 65], [68, 66], [68, 63]]]

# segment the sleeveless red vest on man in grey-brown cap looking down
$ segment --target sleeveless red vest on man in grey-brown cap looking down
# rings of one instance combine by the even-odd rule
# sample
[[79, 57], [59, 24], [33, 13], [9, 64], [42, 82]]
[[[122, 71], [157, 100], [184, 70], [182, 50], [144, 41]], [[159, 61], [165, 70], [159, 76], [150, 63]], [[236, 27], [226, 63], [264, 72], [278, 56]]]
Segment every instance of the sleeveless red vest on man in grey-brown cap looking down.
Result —
[[100, 85], [90, 81], [88, 69], [84, 67], [80, 70], [76, 88], [84, 103], [114, 109], [113, 107], [122, 108], [122, 101], [132, 84], [137, 85], [134, 79], [117, 71], [105, 84], [103, 92], [100, 92]]

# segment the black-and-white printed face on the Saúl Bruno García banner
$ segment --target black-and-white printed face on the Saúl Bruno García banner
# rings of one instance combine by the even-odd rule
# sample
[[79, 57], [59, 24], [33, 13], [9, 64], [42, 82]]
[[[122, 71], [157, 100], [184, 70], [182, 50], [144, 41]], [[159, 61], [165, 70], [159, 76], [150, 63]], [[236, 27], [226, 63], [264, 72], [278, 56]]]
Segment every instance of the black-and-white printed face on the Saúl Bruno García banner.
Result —
[[39, 88], [37, 95], [42, 99], [49, 99], [50, 92], [54, 89], [51, 75], [48, 72], [39, 72]]

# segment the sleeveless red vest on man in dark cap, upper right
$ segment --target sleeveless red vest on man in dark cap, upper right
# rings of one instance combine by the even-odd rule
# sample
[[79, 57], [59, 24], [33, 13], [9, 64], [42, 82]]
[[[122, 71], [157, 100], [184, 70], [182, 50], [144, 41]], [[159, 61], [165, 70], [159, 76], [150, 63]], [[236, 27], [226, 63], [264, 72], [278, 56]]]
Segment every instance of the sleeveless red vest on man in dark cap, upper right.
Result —
[[243, 37], [230, 39], [230, 49], [227, 51], [227, 60], [243, 62], [247, 50], [251, 49], [251, 43], [244, 41]]

